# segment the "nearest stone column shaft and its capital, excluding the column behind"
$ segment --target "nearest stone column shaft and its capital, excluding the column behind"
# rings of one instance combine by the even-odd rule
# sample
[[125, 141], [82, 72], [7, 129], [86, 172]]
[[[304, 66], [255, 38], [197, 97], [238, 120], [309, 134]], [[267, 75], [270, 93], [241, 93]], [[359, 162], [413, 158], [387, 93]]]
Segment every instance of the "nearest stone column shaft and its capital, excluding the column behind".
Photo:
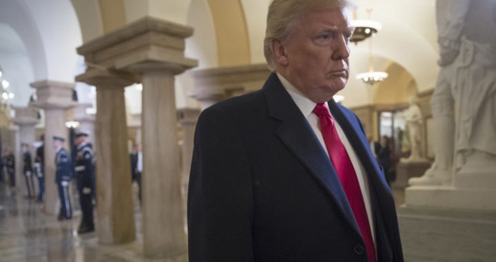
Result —
[[[197, 66], [184, 57], [185, 38], [193, 30], [158, 19], [141, 21], [149, 34], [163, 39], [145, 42], [147, 52], [121, 64], [141, 76], [143, 145], [143, 252], [149, 257], [184, 254], [187, 250], [178, 154], [174, 76]], [[159, 28], [159, 29], [158, 29]], [[136, 37], [138, 37], [136, 35]]]

